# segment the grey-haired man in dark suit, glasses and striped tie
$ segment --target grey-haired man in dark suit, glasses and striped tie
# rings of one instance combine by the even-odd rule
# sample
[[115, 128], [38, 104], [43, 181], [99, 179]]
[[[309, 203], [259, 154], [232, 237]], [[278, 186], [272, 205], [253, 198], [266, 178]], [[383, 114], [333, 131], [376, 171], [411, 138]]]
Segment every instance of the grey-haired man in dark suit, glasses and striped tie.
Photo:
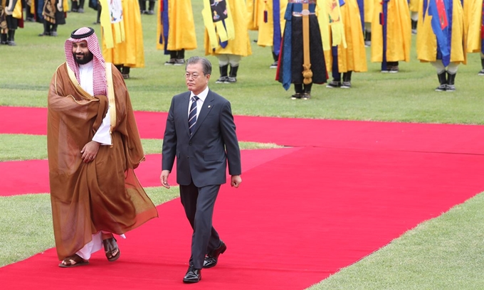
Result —
[[185, 283], [200, 281], [201, 269], [214, 267], [227, 249], [212, 226], [215, 200], [226, 183], [227, 161], [231, 186], [238, 188], [242, 182], [231, 105], [209, 90], [210, 74], [206, 58], [194, 56], [186, 61], [189, 92], [173, 97], [163, 139], [162, 186], [169, 188], [168, 176], [177, 156], [181, 204], [194, 229]]

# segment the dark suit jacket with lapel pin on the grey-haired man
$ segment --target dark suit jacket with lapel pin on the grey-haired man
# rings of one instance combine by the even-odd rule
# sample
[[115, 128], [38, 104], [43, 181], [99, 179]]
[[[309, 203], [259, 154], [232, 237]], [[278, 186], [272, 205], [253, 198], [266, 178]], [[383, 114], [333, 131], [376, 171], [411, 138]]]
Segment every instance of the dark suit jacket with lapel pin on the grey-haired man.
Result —
[[172, 98], [164, 131], [162, 170], [172, 171], [177, 157], [177, 183], [197, 187], [226, 183], [230, 175], [241, 174], [241, 151], [236, 125], [228, 100], [209, 90], [193, 134], [189, 133], [190, 92]]

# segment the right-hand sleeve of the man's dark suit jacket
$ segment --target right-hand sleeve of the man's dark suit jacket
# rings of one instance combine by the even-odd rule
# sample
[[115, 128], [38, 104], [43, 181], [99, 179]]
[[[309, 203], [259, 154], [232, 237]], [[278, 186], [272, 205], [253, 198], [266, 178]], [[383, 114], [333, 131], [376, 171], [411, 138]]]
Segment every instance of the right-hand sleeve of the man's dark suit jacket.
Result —
[[228, 174], [241, 175], [241, 149], [238, 147], [236, 124], [233, 122], [230, 102], [223, 104], [220, 118], [220, 129], [228, 159]]

